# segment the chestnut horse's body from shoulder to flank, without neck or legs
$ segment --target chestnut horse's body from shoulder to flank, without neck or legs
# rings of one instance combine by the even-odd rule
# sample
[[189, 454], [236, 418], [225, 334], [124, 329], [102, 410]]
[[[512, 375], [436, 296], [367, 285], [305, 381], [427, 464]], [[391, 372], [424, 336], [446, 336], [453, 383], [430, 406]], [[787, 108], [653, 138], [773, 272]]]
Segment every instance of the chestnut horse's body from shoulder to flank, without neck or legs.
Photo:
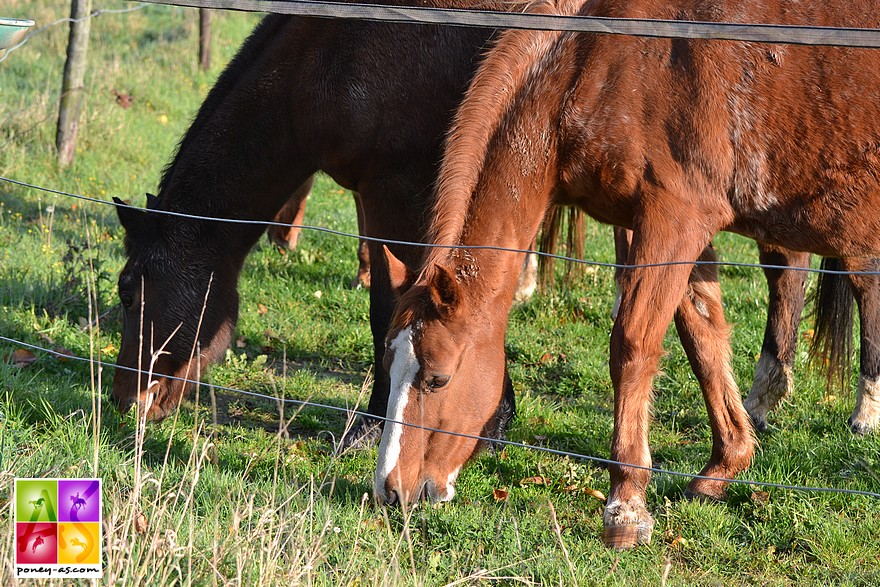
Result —
[[[793, 25], [880, 25], [873, 2], [593, 2], [583, 14]], [[724, 228], [792, 248], [880, 247], [880, 53], [740, 41], [564, 35], [585, 64], [568, 94], [562, 176], [628, 224], [648, 183]], [[584, 164], [584, 161], [591, 162]], [[697, 195], [695, 195], [697, 194]], [[723, 199], [718, 196], [723, 194]], [[595, 203], [586, 205], [601, 208]], [[612, 206], [614, 207], [614, 206]], [[796, 212], [796, 213], [795, 213]], [[618, 222], [623, 221], [623, 222]], [[843, 239], [839, 235], [847, 233]]]

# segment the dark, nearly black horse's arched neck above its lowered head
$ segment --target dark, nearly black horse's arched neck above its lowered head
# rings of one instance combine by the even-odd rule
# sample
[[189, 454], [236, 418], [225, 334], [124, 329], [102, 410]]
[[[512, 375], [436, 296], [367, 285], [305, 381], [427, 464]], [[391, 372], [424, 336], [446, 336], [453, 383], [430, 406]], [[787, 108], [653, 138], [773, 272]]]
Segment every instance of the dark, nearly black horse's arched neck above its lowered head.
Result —
[[289, 80], [277, 71], [287, 22], [265, 19], [221, 75], [166, 169], [159, 209], [271, 220], [308, 178], [286, 126]]

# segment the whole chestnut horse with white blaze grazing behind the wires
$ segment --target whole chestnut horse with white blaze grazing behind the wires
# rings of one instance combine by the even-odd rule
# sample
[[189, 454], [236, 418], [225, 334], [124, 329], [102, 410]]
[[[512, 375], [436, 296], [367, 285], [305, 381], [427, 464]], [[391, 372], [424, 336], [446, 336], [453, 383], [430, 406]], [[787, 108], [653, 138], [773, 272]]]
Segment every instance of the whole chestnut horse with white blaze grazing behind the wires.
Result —
[[[877, 26], [867, 0], [573, 0], [590, 16]], [[723, 498], [754, 434], [734, 382], [713, 236], [827, 257], [880, 254], [880, 83], [870, 50], [538, 31], [502, 34], [456, 114], [417, 272], [386, 251], [400, 296], [387, 337], [388, 416], [476, 434], [495, 413], [523, 249], [552, 202], [633, 230], [611, 335], [614, 434], [603, 539], [650, 541], [653, 378], [675, 319], [703, 391], [712, 454], [688, 484]], [[377, 498], [447, 500], [476, 447], [387, 424]]]

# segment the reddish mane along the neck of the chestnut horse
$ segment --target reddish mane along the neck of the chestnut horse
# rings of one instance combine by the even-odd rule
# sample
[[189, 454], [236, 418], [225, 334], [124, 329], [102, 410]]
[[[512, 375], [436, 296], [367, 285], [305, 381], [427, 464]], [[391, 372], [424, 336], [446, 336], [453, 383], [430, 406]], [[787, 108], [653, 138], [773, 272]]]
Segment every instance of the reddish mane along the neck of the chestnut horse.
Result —
[[[571, 14], [581, 3], [579, 0], [535, 0], [520, 3], [520, 6], [524, 12]], [[528, 56], [545, 52], [548, 41], [557, 34], [552, 31], [506, 31], [498, 37], [494, 48], [480, 65], [446, 138], [443, 167], [436, 188], [442, 196], [435, 199], [429, 242], [459, 244], [471, 196], [492, 137], [530, 77], [530, 72], [518, 68], [517, 64], [536, 62]], [[425, 267], [442, 262], [448, 255], [447, 249], [432, 249]]]

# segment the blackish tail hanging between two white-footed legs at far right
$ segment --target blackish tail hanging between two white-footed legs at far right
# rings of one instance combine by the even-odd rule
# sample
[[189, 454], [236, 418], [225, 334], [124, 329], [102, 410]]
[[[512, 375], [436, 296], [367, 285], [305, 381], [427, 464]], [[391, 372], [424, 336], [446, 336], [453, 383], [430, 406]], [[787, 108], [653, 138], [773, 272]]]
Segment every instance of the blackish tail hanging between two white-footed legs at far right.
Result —
[[[840, 259], [822, 259], [822, 269], [842, 271]], [[813, 293], [815, 326], [810, 362], [825, 370], [829, 387], [846, 387], [852, 367], [855, 297], [846, 275], [820, 273]]]

